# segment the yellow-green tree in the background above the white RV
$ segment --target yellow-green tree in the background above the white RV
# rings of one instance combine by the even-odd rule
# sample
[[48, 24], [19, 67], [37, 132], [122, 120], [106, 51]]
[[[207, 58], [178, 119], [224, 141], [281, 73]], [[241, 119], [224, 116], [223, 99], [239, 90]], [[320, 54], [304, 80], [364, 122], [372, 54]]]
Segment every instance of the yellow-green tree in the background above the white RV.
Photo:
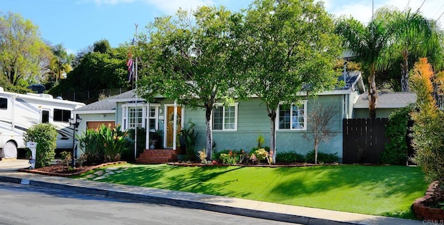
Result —
[[12, 85], [21, 79], [33, 81], [49, 65], [49, 47], [37, 26], [9, 12], [0, 17], [0, 69]]

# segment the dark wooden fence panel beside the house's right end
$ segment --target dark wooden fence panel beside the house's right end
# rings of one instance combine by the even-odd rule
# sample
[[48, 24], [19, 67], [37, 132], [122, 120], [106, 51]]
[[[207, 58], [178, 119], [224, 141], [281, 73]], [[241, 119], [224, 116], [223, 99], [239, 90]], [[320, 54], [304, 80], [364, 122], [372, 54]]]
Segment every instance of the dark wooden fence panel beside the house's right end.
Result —
[[388, 118], [343, 119], [343, 163], [379, 163]]

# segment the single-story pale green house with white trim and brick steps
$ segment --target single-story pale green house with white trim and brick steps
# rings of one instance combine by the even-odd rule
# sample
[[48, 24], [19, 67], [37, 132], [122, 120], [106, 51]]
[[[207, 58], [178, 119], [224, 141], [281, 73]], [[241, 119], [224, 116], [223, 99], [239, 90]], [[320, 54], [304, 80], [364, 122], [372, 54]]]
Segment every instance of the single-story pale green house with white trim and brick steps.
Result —
[[[280, 107], [276, 121], [277, 141], [276, 153], [280, 151], [296, 151], [305, 154], [313, 149], [313, 144], [302, 137], [309, 132], [309, 115], [315, 104], [334, 110], [331, 131], [333, 138], [328, 143], [321, 143], [319, 151], [337, 153], [342, 157], [342, 119], [354, 117], [354, 104], [365, 93], [361, 72], [348, 72], [339, 79], [345, 81], [342, 88], [318, 94], [316, 99], [305, 97], [300, 103], [290, 108]], [[305, 92], [300, 93], [302, 97]], [[177, 113], [176, 125], [174, 115]], [[118, 94], [108, 99], [91, 103], [73, 111], [82, 118], [78, 126], [81, 135], [87, 128], [96, 128], [100, 124], [121, 124], [121, 128], [129, 129], [136, 126], [162, 135], [162, 149], [175, 150], [177, 132], [191, 121], [195, 124], [194, 131], [199, 133], [196, 148], [205, 148], [205, 111], [192, 110], [187, 106], [177, 105], [173, 99], [158, 96], [154, 102], [146, 102], [135, 96], [133, 90]], [[270, 140], [270, 119], [266, 106], [257, 97], [235, 101], [231, 106], [221, 103], [214, 108], [212, 115], [213, 139], [215, 151], [224, 149], [244, 149], [250, 151], [257, 146], [257, 137], [265, 138], [264, 145]], [[176, 130], [176, 133], [174, 132]], [[146, 140], [150, 140], [149, 133]], [[146, 149], [150, 142], [146, 142]]]

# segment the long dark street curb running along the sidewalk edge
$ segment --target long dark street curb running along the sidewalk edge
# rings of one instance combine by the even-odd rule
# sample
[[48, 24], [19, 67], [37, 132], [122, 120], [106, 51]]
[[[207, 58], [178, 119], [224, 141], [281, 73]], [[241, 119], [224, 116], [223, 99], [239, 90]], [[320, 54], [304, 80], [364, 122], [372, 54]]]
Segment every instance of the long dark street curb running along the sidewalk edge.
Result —
[[113, 190], [103, 190], [100, 188], [83, 188], [75, 185], [67, 185], [60, 183], [49, 183], [44, 181], [33, 181], [31, 179], [22, 179], [8, 176], [0, 176], [0, 182], [18, 183], [32, 185], [35, 187], [52, 188], [58, 190], [69, 190], [81, 194], [94, 194], [114, 199], [127, 199], [132, 201], [142, 201], [148, 203], [160, 203], [169, 206], [178, 206], [182, 208], [192, 208], [199, 210], [207, 210], [216, 213], [227, 213], [231, 215], [240, 215], [245, 217], [255, 217], [259, 219], [270, 219], [279, 222], [290, 222], [297, 224], [360, 224], [352, 222], [339, 222], [330, 219], [320, 219], [315, 217], [305, 217], [300, 215], [289, 215], [285, 213], [273, 213], [262, 210], [253, 210], [247, 208], [235, 208], [232, 206], [221, 206], [214, 203], [206, 203], [202, 201], [190, 201], [183, 199], [173, 199], [167, 197], [156, 197], [146, 194], [133, 194], [128, 192], [118, 192]]

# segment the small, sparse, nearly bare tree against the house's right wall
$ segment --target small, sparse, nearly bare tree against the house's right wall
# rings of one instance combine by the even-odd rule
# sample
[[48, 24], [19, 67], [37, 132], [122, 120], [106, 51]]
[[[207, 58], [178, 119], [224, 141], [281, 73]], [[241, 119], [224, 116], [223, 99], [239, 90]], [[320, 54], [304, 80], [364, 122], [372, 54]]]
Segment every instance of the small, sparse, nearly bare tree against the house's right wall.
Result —
[[321, 142], [327, 142], [334, 135], [331, 129], [332, 123], [336, 119], [335, 115], [337, 115], [337, 112], [332, 105], [323, 106], [321, 103], [315, 103], [307, 117], [309, 130], [302, 133], [302, 137], [314, 144], [315, 164], [318, 163], [319, 144]]

